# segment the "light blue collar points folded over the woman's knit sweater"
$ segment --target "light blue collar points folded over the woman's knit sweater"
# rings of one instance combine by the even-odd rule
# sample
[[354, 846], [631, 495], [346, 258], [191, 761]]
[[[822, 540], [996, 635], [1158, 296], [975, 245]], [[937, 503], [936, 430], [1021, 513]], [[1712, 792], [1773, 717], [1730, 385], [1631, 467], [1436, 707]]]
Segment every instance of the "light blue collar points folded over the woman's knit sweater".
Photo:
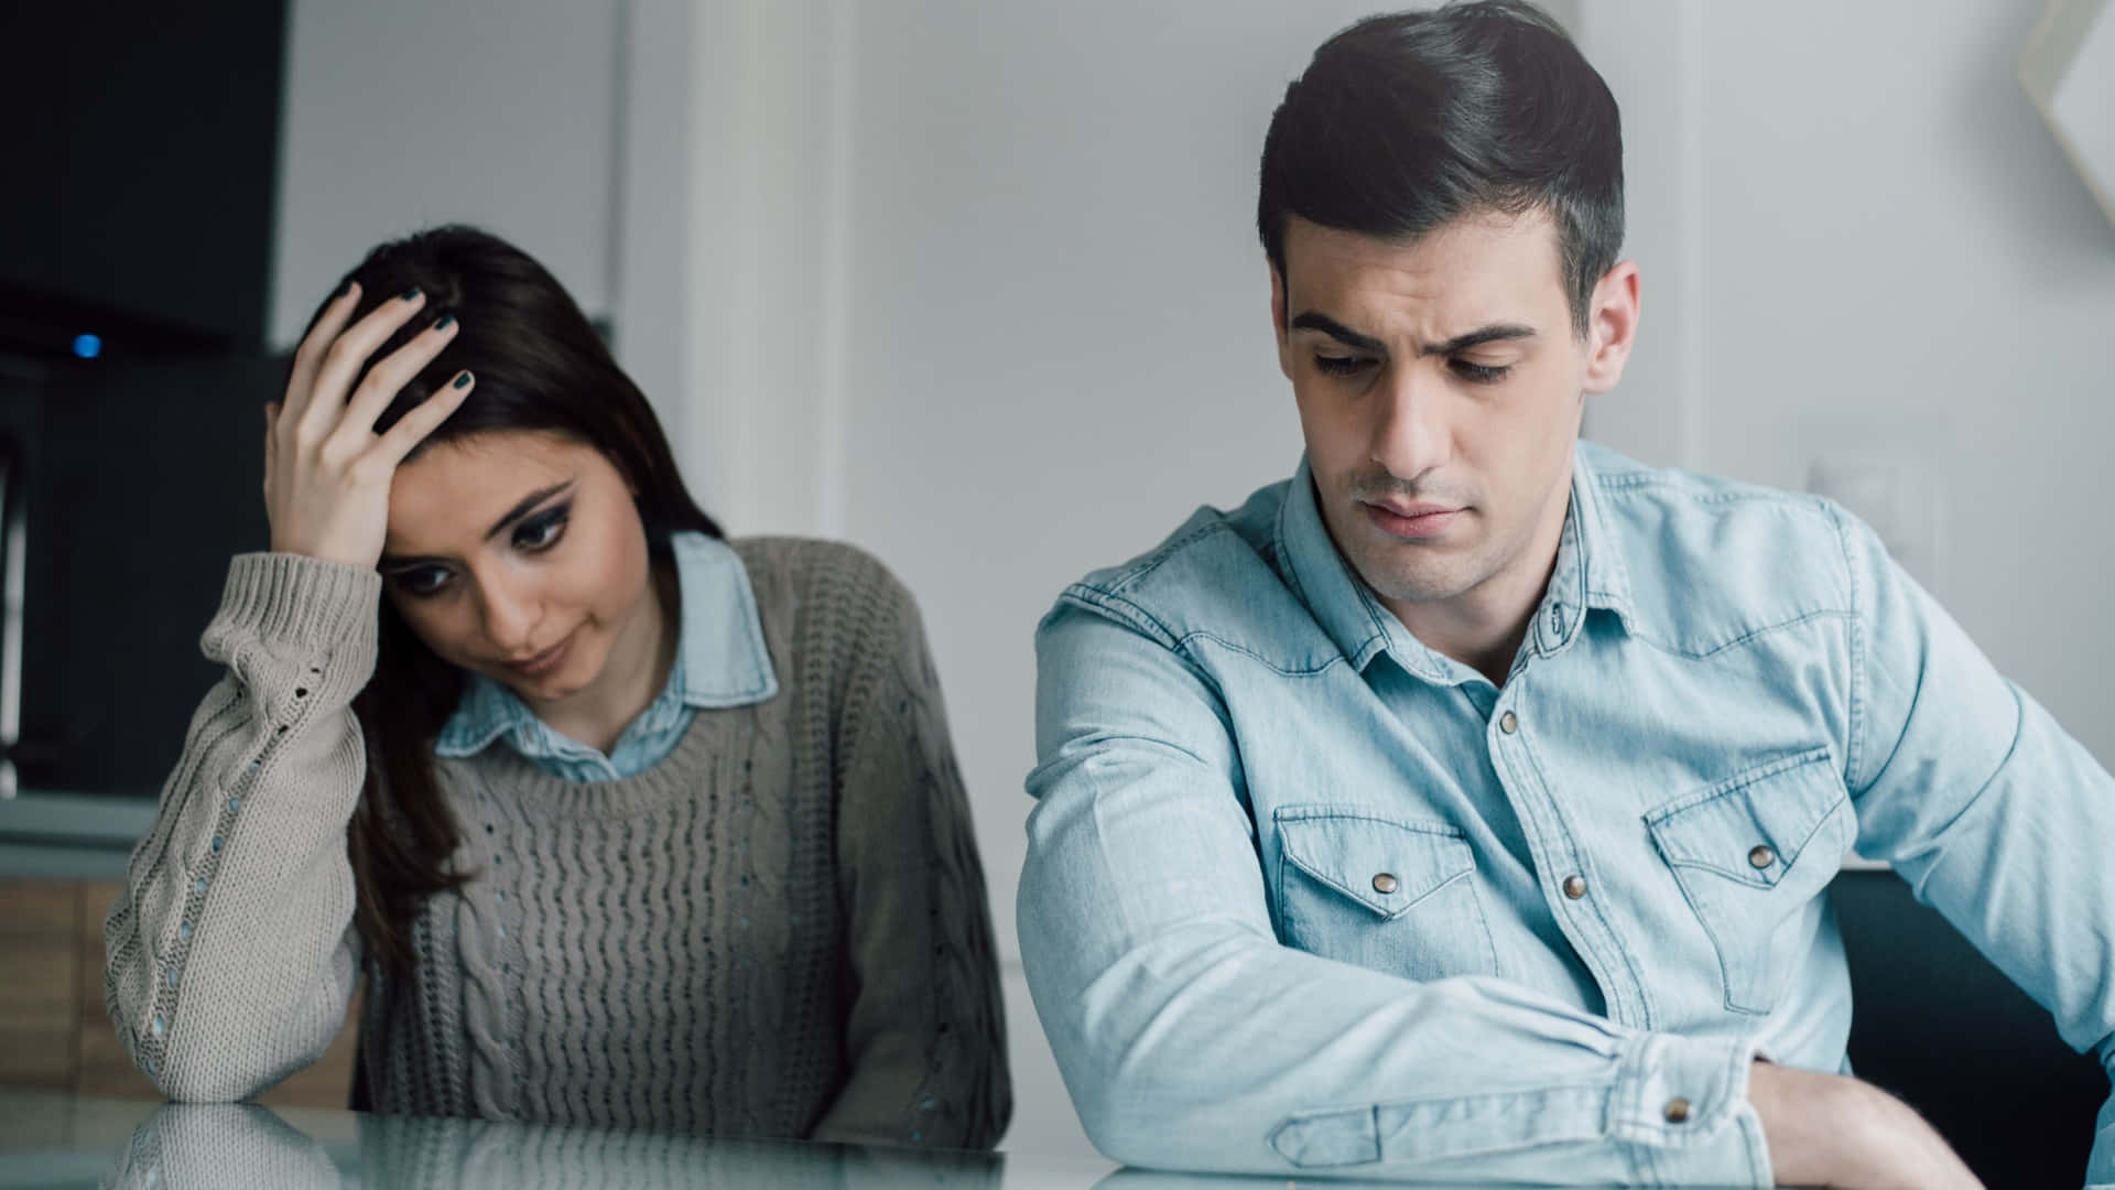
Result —
[[[683, 610], [668, 686], [645, 716], [668, 707], [723, 709], [778, 695], [778, 675], [764, 644], [764, 618], [734, 546], [704, 534], [675, 534], [675, 574]], [[643, 716], [643, 718], [645, 718]], [[463, 701], [434, 741], [436, 756], [474, 756], [501, 735], [529, 728], [535, 714], [510, 690], [472, 673]]]

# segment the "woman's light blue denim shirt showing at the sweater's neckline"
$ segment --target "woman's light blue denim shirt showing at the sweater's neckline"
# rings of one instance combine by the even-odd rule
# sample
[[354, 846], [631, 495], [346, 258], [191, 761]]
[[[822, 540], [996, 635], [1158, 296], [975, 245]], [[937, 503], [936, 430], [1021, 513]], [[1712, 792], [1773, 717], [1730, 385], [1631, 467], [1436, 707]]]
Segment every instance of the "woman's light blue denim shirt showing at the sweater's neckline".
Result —
[[463, 701], [434, 741], [436, 756], [476, 756], [505, 741], [546, 773], [569, 781], [615, 781], [660, 764], [711, 707], [747, 707], [778, 692], [749, 572], [728, 542], [675, 534], [675, 576], [683, 625], [668, 684], [639, 711], [609, 756], [552, 731], [514, 690], [472, 673]]

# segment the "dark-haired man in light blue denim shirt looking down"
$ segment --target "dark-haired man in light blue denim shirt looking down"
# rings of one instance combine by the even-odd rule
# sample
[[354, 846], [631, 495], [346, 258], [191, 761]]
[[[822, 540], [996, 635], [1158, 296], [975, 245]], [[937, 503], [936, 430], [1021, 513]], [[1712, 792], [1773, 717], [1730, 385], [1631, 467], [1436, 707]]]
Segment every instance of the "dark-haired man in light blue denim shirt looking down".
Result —
[[2115, 781], [1840, 508], [1578, 443], [1639, 322], [1601, 78], [1519, 2], [1354, 25], [1258, 229], [1301, 468], [1036, 637], [1019, 936], [1089, 1137], [1975, 1186], [1840, 1074], [1827, 885], [1893, 862], [2107, 1063]]

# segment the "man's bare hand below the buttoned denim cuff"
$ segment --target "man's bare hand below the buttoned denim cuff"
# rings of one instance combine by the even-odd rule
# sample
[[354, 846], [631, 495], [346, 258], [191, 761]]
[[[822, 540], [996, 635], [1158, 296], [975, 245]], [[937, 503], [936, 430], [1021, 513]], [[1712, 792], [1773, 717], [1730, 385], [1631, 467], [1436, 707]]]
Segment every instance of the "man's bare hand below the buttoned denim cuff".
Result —
[[1923, 1116], [1870, 1082], [1758, 1061], [1747, 1099], [1779, 1186], [1984, 1190]]

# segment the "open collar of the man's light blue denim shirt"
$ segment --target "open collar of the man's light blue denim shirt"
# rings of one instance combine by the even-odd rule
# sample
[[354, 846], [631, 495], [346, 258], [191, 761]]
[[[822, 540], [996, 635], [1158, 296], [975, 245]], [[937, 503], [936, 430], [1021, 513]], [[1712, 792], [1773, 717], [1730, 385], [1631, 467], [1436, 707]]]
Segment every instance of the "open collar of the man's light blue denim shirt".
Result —
[[[1557, 565], [1535, 610], [1535, 623], [1529, 627], [1527, 639], [1544, 656], [1571, 644], [1584, 623], [1586, 608], [1605, 608], [1624, 620], [1633, 616], [1631, 580], [1603, 515], [1593, 451], [1597, 447], [1582, 443], [1574, 457], [1571, 506], [1565, 510]], [[1470, 667], [1411, 635], [1402, 620], [1383, 608], [1366, 582], [1358, 578], [1328, 536], [1305, 455], [1292, 476], [1286, 502], [1277, 510], [1277, 551], [1316, 623], [1360, 671], [1377, 654], [1387, 652], [1406, 671], [1428, 682], [1461, 684], [1476, 675]]]

